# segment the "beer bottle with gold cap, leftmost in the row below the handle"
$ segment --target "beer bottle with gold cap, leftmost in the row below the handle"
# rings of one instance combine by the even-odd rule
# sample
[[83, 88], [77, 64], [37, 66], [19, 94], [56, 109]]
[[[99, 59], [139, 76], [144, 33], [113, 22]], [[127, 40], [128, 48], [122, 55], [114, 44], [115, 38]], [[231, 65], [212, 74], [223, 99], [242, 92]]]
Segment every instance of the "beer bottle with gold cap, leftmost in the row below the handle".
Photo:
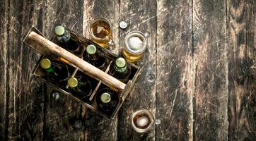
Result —
[[42, 59], [40, 66], [45, 70], [45, 77], [50, 82], [63, 82], [69, 78], [68, 67], [62, 61]]

